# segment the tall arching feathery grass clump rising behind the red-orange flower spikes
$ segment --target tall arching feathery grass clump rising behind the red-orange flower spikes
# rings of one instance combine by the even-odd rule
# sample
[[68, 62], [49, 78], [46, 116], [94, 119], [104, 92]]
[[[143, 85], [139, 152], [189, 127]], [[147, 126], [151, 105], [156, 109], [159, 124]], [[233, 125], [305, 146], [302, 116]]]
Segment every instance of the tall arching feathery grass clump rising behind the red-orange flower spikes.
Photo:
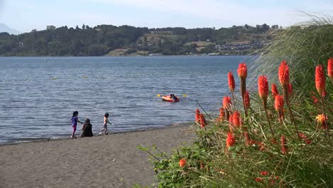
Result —
[[[255, 74], [270, 76], [270, 81], [277, 83], [277, 67], [282, 60], [287, 60], [291, 83], [300, 96], [309, 95], [313, 90], [314, 69], [318, 64], [327, 66], [327, 59], [333, 57], [333, 18], [323, 15], [306, 14], [308, 21], [273, 31], [273, 40], [263, 55], [253, 63]], [[257, 78], [257, 77], [253, 77]]]

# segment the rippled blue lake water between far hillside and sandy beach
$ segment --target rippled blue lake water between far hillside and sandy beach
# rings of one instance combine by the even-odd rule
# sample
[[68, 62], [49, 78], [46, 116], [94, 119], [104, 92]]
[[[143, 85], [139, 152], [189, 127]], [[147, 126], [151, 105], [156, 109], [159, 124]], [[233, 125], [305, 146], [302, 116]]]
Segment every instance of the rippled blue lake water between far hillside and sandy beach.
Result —
[[[252, 58], [0, 58], [0, 144], [70, 137], [74, 110], [79, 120], [90, 118], [94, 133], [102, 129], [105, 112], [110, 132], [194, 121], [195, 100], [218, 113], [229, 93], [228, 71], [238, 83], [238, 63]], [[157, 97], [169, 93], [188, 97], [179, 103]]]

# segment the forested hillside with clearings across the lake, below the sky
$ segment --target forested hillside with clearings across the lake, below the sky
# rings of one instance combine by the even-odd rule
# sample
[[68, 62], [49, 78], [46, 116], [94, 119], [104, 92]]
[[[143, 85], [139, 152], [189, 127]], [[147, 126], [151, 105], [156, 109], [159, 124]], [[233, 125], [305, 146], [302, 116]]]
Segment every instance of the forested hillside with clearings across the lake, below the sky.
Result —
[[248, 54], [267, 45], [270, 31], [277, 29], [266, 24], [219, 29], [47, 26], [20, 35], [0, 33], [0, 56]]

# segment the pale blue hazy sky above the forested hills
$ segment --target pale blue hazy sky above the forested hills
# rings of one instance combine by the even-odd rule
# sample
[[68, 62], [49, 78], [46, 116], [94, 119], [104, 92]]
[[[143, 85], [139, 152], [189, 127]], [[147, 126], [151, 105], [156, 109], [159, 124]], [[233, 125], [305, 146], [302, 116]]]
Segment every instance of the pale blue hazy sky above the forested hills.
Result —
[[46, 26], [290, 26], [305, 14], [333, 15], [333, 0], [0, 0], [0, 23], [22, 32]]

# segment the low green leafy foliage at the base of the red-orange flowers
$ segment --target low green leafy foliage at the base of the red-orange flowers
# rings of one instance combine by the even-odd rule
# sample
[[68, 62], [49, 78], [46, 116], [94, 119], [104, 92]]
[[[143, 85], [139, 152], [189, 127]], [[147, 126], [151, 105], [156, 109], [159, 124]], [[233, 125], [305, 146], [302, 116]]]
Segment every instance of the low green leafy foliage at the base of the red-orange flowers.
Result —
[[[327, 100], [332, 100], [332, 96]], [[226, 135], [230, 130], [226, 121], [211, 122], [206, 131], [196, 130], [196, 142], [179, 147], [171, 157], [155, 147], [145, 148], [154, 156], [159, 187], [333, 187], [332, 140], [315, 121], [320, 107], [310, 98], [305, 102], [297, 105], [292, 101], [292, 106], [300, 132], [311, 143], [300, 142], [292, 122], [286, 118], [280, 125], [276, 113], [271, 112], [273, 140], [263, 112], [258, 111], [250, 113], [248, 123], [243, 125], [248, 127], [253, 141], [247, 142], [243, 130], [236, 129], [236, 145], [229, 147], [228, 152]], [[260, 100], [253, 97], [251, 103], [255, 106]], [[328, 116], [333, 118], [332, 113]], [[281, 152], [280, 135], [287, 138], [287, 155]], [[185, 167], [179, 166], [181, 159], [186, 160]]]

